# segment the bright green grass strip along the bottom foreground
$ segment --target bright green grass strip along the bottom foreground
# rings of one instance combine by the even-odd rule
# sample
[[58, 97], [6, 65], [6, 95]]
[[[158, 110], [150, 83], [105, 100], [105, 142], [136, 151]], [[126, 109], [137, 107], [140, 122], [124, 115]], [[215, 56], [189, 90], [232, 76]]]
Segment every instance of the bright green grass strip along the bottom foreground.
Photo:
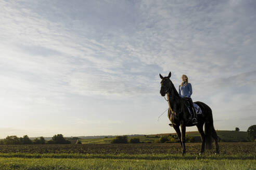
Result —
[[7, 153], [0, 154], [0, 169], [256, 169], [256, 160], [255, 155], [245, 154], [182, 157], [180, 154]]

